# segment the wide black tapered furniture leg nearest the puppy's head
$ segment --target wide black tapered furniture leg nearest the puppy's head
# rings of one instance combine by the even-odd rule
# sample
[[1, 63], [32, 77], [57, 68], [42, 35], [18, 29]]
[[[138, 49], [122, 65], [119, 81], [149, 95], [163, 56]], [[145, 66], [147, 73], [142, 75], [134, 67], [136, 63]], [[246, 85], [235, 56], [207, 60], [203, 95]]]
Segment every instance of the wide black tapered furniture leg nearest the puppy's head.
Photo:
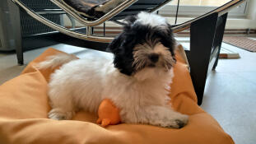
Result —
[[217, 17], [218, 14], [213, 13], [198, 21], [194, 21], [190, 27], [190, 51], [188, 59], [193, 86], [198, 96], [198, 105], [202, 104]]

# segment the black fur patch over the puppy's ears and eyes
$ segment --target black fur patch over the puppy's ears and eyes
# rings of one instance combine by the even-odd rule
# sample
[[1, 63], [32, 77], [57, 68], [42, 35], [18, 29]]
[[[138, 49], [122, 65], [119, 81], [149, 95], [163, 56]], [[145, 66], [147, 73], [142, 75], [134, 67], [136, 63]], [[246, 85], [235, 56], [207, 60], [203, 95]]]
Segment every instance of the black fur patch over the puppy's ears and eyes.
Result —
[[133, 65], [133, 52], [137, 44], [154, 46], [161, 43], [170, 50], [175, 59], [175, 39], [171, 26], [167, 23], [163, 26], [145, 25], [137, 19], [137, 16], [128, 16], [127, 24], [123, 26], [123, 32], [108, 47], [108, 50], [114, 53], [114, 67], [128, 76], [136, 72]]

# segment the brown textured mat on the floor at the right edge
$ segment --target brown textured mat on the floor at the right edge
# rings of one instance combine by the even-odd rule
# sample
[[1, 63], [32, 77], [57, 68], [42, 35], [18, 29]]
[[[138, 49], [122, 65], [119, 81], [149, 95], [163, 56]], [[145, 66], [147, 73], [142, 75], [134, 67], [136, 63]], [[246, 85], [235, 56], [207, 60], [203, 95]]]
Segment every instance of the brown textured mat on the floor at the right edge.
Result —
[[234, 45], [240, 49], [256, 52], [256, 40], [238, 36], [225, 36], [223, 42]]

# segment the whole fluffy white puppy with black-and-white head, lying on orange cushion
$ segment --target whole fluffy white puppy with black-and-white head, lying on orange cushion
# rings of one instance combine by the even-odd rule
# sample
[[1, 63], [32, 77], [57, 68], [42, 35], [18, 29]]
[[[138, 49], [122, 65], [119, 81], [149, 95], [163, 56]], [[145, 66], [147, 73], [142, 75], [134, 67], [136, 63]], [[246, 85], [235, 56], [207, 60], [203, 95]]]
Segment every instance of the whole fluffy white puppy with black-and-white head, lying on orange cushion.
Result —
[[175, 40], [165, 18], [141, 12], [126, 19], [109, 50], [113, 59], [77, 59], [67, 54], [48, 58], [38, 67], [55, 67], [49, 81], [49, 118], [71, 119], [77, 109], [96, 113], [106, 98], [119, 107], [123, 123], [181, 128], [188, 116], [170, 107]]

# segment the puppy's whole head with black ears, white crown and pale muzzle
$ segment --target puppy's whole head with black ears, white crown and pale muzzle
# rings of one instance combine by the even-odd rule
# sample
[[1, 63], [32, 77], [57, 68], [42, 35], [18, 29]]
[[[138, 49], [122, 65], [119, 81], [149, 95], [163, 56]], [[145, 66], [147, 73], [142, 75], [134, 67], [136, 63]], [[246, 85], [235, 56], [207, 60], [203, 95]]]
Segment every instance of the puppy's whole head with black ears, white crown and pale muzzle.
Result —
[[141, 12], [127, 18], [123, 32], [109, 44], [114, 66], [123, 74], [152, 77], [168, 72], [175, 64], [175, 40], [171, 26], [161, 16]]

